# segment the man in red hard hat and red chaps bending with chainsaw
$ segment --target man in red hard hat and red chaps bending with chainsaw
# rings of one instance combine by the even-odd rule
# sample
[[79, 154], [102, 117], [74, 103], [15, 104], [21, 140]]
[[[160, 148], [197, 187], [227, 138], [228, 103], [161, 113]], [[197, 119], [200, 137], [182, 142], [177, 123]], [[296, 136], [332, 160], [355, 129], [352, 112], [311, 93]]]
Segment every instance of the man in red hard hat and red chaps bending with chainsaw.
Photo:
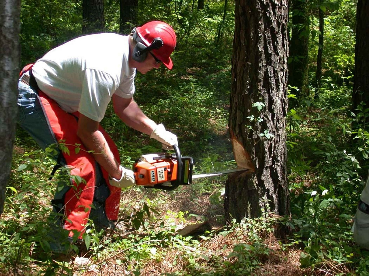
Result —
[[[129, 36], [100, 33], [70, 40], [21, 72], [21, 127], [44, 149], [59, 141], [69, 145], [69, 153], [58, 151], [58, 164], [84, 179], [61, 184], [52, 201], [54, 211], [66, 216], [62, 226], [70, 238], [82, 238], [89, 218], [96, 227], [114, 227], [120, 188], [135, 184], [132, 170], [120, 165], [114, 142], [99, 124], [110, 100], [130, 127], [163, 147], [178, 144], [176, 135], [146, 117], [133, 99], [136, 70], [146, 74], [161, 63], [172, 69], [169, 56], [175, 46], [172, 27], [151, 21]], [[73, 148], [79, 144], [82, 151]]]

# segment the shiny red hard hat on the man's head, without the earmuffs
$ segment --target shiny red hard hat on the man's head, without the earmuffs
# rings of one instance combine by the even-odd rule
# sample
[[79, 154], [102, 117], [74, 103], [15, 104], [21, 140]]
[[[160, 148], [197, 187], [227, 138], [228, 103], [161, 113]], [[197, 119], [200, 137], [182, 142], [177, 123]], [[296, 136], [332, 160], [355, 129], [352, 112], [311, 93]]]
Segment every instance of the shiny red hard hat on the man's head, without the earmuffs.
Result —
[[155, 38], [163, 40], [163, 46], [159, 49], [152, 50], [155, 57], [157, 57], [168, 69], [172, 69], [173, 62], [170, 59], [170, 54], [176, 47], [177, 39], [176, 33], [172, 27], [162, 21], [150, 21], [140, 27], [137, 27], [139, 37], [149, 46]]

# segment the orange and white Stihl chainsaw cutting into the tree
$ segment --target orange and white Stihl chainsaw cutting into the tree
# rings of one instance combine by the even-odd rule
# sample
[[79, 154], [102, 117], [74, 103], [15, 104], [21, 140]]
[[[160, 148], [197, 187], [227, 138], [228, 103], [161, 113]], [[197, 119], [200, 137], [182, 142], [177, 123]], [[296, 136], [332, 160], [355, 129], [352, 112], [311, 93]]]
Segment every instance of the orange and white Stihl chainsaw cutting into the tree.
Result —
[[223, 174], [245, 171], [239, 168], [209, 174], [192, 175], [193, 159], [181, 156], [179, 147], [173, 146], [175, 154], [167, 152], [142, 155], [133, 164], [133, 172], [137, 185], [172, 191], [179, 185], [190, 185], [192, 180], [203, 177], [221, 176]]

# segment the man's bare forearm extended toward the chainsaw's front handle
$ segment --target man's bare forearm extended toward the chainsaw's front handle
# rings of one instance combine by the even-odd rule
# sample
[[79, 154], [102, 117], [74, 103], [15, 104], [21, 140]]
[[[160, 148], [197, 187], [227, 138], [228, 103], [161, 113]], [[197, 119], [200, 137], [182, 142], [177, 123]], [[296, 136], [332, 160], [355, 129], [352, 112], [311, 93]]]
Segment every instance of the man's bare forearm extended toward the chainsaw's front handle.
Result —
[[142, 133], [151, 135], [157, 127], [156, 123], [149, 119], [137, 105], [133, 98], [124, 99], [113, 95], [114, 112], [127, 125]]

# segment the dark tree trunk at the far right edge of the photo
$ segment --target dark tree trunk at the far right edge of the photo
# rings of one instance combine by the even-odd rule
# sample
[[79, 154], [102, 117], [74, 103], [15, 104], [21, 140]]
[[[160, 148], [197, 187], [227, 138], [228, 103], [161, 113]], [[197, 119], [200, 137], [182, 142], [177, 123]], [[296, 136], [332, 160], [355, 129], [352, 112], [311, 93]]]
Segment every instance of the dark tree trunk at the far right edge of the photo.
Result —
[[[352, 93], [353, 112], [358, 114], [358, 106], [365, 103], [369, 107], [369, 1], [358, 0], [356, 10], [356, 43], [355, 43], [355, 73], [354, 90]], [[364, 128], [369, 131], [369, 118], [366, 121], [353, 121], [352, 129]]]

